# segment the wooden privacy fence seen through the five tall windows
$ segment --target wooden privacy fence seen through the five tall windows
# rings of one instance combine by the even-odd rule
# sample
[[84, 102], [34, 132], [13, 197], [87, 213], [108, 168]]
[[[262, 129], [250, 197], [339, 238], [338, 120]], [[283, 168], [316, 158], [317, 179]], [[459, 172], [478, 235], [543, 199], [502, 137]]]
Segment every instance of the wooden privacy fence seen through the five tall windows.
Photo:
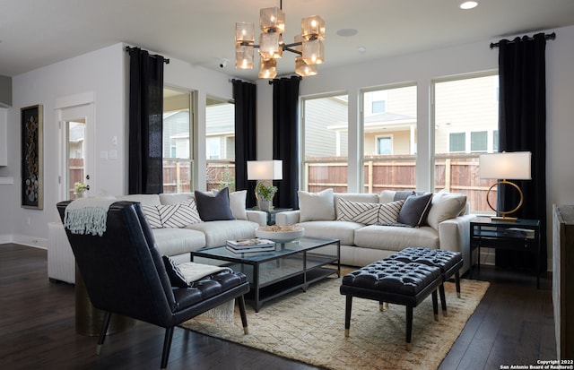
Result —
[[[306, 162], [304, 181], [309, 192], [332, 188], [335, 193], [348, 190], [347, 163], [341, 161]], [[367, 160], [364, 163], [364, 193], [383, 190], [415, 190], [416, 161], [413, 158]], [[435, 189], [449, 189], [452, 193], [466, 195], [472, 211], [491, 211], [486, 203], [486, 193], [493, 180], [482, 180], [478, 175], [478, 158], [437, 159], [434, 175]], [[207, 190], [230, 186], [235, 190], [235, 166], [230, 161], [208, 161], [206, 168]], [[191, 164], [189, 160], [164, 160], [163, 181], [165, 193], [189, 192]], [[490, 195], [496, 203], [496, 191]]]

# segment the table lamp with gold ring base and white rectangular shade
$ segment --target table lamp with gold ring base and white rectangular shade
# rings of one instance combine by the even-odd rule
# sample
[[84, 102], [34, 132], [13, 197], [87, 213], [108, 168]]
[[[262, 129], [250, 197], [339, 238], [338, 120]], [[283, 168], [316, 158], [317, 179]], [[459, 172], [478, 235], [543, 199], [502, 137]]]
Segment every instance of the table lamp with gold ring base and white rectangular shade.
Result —
[[[524, 202], [524, 194], [518, 185], [511, 183], [509, 180], [530, 180], [530, 162], [532, 153], [530, 151], [514, 151], [500, 153], [482, 154], [478, 158], [480, 168], [480, 178], [495, 178], [497, 181], [492, 185], [486, 193], [486, 202], [492, 211], [495, 211], [497, 216], [491, 219], [500, 219], [505, 221], [516, 221], [516, 217], [509, 217], [508, 215], [514, 213], [522, 207]], [[500, 180], [502, 179], [502, 180]], [[517, 207], [511, 211], [500, 211], [498, 208], [492, 207], [489, 200], [491, 190], [499, 185], [510, 185], [517, 189], [520, 194], [520, 201]], [[499, 215], [502, 215], [501, 217]]]

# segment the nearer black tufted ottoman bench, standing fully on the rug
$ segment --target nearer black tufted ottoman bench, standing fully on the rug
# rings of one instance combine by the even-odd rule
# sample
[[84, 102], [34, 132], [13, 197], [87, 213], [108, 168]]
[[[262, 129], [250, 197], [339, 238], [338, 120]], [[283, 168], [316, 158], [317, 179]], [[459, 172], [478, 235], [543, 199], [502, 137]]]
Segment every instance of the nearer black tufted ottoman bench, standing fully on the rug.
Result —
[[439, 316], [437, 288], [442, 283], [440, 269], [420, 263], [393, 260], [372, 262], [343, 277], [339, 289], [346, 296], [344, 312], [344, 335], [349, 336], [351, 326], [352, 297], [372, 299], [406, 306], [406, 345], [411, 349], [413, 331], [413, 308], [432, 295], [435, 320]]

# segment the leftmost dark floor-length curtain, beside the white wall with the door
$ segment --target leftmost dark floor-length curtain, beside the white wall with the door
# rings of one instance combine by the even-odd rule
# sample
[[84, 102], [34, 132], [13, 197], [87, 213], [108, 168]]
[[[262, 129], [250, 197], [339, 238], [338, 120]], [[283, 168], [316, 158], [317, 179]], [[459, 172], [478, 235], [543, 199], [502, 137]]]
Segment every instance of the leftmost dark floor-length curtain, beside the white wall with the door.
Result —
[[129, 70], [129, 194], [163, 193], [163, 64], [139, 47], [127, 47]]

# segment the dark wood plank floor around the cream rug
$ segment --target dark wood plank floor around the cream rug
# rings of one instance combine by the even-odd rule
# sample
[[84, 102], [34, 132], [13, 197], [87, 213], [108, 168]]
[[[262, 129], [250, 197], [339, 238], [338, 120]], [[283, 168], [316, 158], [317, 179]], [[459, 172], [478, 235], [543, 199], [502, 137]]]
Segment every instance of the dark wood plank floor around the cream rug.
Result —
[[[97, 339], [75, 332], [74, 287], [49, 282], [47, 269], [45, 250], [0, 245], [0, 368], [159, 368], [163, 329], [147, 323], [110, 335], [95, 356]], [[538, 290], [535, 277], [521, 272], [483, 266], [478, 278], [491, 281], [491, 288], [439, 368], [500, 369], [555, 358], [550, 274]], [[176, 330], [169, 368], [316, 367]]]

